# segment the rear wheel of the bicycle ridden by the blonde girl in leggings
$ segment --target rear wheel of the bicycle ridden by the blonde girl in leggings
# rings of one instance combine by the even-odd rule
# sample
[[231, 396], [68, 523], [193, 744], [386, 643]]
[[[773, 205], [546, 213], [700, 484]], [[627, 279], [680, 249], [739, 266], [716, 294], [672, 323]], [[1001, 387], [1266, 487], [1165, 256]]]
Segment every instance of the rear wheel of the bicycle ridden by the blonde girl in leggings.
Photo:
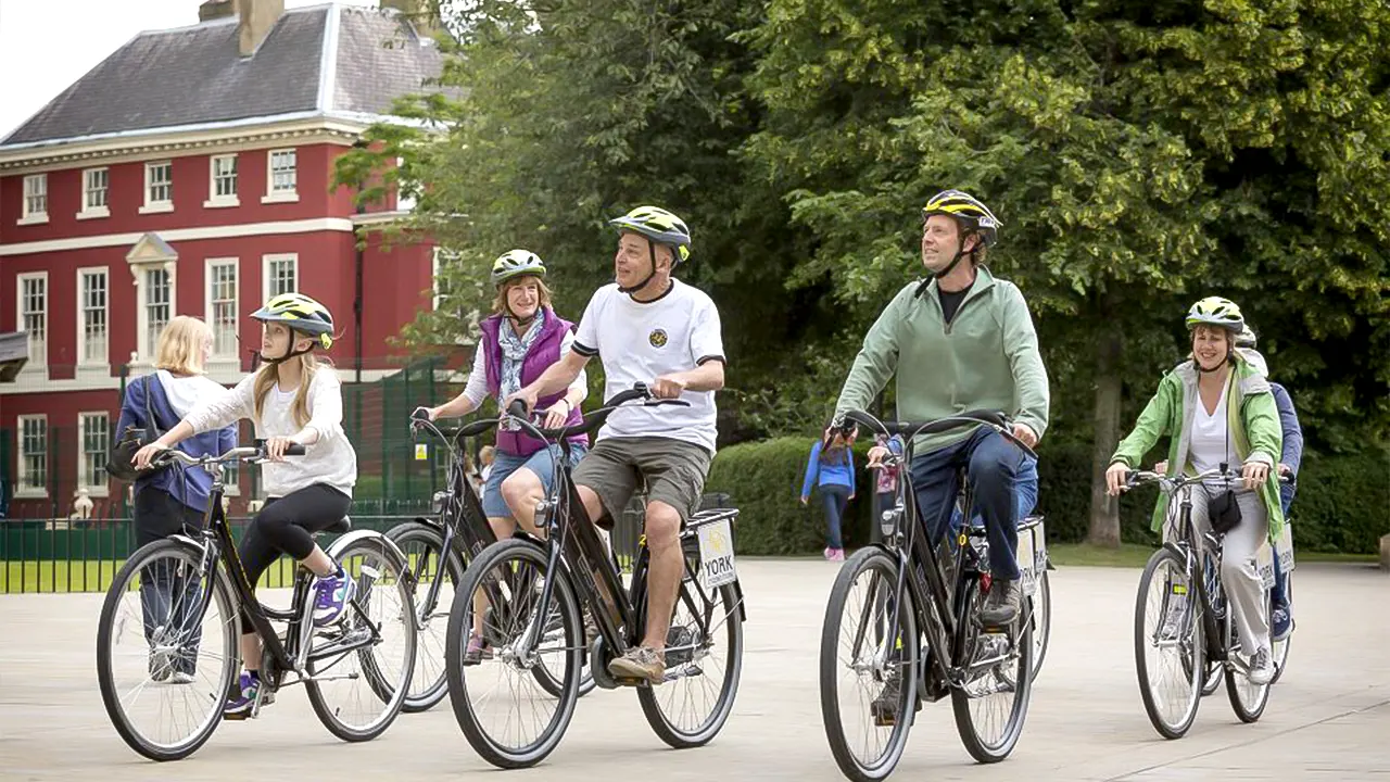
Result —
[[357, 594], [336, 622], [316, 629], [304, 686], [329, 733], [367, 742], [395, 722], [410, 692], [414, 591], [404, 557], [382, 534], [359, 537], [331, 555], [356, 579]]

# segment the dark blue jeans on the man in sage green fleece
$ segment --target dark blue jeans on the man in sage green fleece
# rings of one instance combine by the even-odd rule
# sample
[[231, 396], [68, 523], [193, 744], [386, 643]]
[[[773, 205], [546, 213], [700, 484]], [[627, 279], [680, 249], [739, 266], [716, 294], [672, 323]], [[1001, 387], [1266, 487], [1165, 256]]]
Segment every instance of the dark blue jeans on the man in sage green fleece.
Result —
[[960, 490], [956, 470], [966, 468], [974, 505], [984, 516], [990, 540], [990, 573], [997, 579], [1017, 580], [1019, 506], [1015, 486], [1023, 461], [1023, 451], [983, 426], [959, 442], [912, 459], [917, 512], [927, 525], [931, 544], [947, 532]]

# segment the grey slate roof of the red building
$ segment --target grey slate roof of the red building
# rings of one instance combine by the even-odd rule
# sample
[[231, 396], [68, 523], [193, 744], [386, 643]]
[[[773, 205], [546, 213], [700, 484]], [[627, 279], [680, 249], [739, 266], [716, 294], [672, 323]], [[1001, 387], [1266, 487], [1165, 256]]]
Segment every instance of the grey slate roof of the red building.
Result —
[[[313, 56], [309, 53], [314, 53]], [[0, 147], [204, 128], [285, 115], [386, 115], [442, 56], [395, 10], [293, 8], [250, 57], [236, 18], [142, 32], [11, 132]]]

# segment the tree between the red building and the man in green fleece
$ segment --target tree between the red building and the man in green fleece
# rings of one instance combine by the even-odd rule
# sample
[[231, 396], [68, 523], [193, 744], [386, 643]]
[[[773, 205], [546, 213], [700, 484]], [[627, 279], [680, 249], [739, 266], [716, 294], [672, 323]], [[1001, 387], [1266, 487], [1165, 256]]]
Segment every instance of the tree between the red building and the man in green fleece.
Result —
[[[341, 159], [339, 182], [364, 202], [400, 181], [413, 188], [406, 228], [450, 250], [441, 282], [464, 310], [491, 298], [480, 284], [491, 260], [524, 246], [546, 260], [562, 313], [578, 319], [612, 281], [606, 221], [642, 203], [676, 212], [694, 237], [677, 274], [720, 306], [726, 398], [737, 399], [767, 383], [760, 367], [780, 358], [796, 312], [780, 285], [792, 257], [785, 206], [767, 186], [744, 186], [755, 179], [733, 154], [756, 117], [742, 88], [752, 61], [730, 36], [753, 14], [737, 0], [471, 4], [446, 19], [461, 32], [446, 43], [443, 95], [402, 107], [418, 127], [373, 128], [370, 147]], [[468, 328], [455, 310], [424, 313], [407, 338], [449, 344]]]

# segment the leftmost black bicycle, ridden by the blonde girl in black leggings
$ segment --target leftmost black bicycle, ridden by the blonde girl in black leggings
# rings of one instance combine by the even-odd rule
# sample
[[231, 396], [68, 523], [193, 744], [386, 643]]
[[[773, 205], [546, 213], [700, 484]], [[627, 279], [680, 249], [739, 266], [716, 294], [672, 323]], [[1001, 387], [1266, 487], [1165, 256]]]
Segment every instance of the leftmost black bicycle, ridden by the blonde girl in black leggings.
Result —
[[[304, 447], [293, 445], [285, 454], [303, 455]], [[314, 626], [314, 576], [303, 566], [296, 568], [288, 609], [270, 608], [256, 598], [222, 512], [222, 477], [228, 462], [264, 459], [264, 445], [257, 445], [200, 458], [168, 449], [153, 462], [204, 469], [213, 476], [213, 488], [202, 529], [135, 551], [115, 575], [101, 607], [97, 626], [101, 701], [121, 739], [150, 760], [188, 757], [222, 722], [222, 707], [240, 672], [242, 609], [264, 648], [261, 690], [252, 717], [272, 703], [279, 689], [302, 683], [331, 733], [346, 742], [366, 742], [391, 726], [410, 689], [416, 629], [403, 619], [414, 615], [410, 572], [404, 555], [381, 533], [350, 532], [346, 516], [322, 530], [342, 533], [328, 547], [328, 555], [357, 579], [357, 597], [332, 625]], [[140, 605], [122, 611], [122, 598], [142, 590], [157, 594], [161, 583], [170, 589], [170, 600], [158, 600], [152, 608], [138, 597]], [[374, 600], [378, 596], [381, 601]], [[286, 623], [284, 637], [277, 635], [272, 621]], [[396, 621], [399, 633], [392, 632]], [[214, 639], [217, 633], [221, 637]], [[395, 643], [386, 646], [392, 639]], [[122, 640], [131, 640], [135, 648], [124, 654], [115, 650]], [[342, 662], [348, 669], [335, 672]], [[135, 669], [126, 671], [126, 664]], [[361, 687], [366, 693], [356, 692], [357, 687], [342, 692], [359, 682], [366, 683]], [[156, 701], [153, 708], [146, 708], [147, 701], [140, 703], [146, 693], [153, 693], [149, 699]], [[145, 717], [153, 725], [145, 725]], [[172, 725], [185, 717], [189, 726]]]

